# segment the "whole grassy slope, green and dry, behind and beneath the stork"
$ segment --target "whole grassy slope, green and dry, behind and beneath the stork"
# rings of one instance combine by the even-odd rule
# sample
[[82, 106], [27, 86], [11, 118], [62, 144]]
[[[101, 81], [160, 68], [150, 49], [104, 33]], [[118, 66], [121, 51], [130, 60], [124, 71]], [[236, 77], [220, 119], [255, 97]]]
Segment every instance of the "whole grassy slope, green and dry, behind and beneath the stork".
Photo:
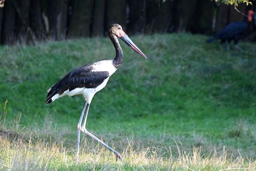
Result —
[[68, 71], [115, 56], [108, 38], [0, 47], [0, 169], [256, 169], [255, 44], [240, 53], [185, 33], [131, 39], [149, 59], [121, 43], [124, 63], [87, 124], [122, 163], [86, 136], [76, 162], [82, 97], [45, 105]]

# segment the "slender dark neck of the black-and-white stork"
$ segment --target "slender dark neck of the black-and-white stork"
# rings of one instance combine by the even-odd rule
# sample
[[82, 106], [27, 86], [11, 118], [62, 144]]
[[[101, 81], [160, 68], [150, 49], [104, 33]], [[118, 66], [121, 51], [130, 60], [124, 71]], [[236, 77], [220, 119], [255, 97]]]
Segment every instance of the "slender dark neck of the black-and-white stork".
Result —
[[122, 48], [119, 44], [119, 41], [117, 39], [117, 37], [115, 36], [115, 34], [110, 34], [110, 39], [112, 41], [112, 43], [114, 44], [114, 47], [116, 49], [116, 57], [114, 58], [113, 60], [113, 65], [118, 68], [121, 64], [122, 64], [122, 61], [124, 59], [124, 56], [122, 54]]

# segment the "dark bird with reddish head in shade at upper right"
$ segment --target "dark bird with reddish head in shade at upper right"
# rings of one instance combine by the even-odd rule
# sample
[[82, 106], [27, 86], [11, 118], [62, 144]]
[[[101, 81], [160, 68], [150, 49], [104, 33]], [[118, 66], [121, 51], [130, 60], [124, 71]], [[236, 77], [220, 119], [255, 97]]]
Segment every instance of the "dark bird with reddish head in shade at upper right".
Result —
[[242, 34], [244, 34], [247, 31], [248, 23], [253, 21], [253, 15], [254, 11], [248, 11], [248, 16], [244, 17], [244, 21], [229, 23], [228, 26], [221, 29], [212, 38], [206, 40], [206, 43], [211, 43], [216, 39], [220, 39], [221, 43], [226, 43], [227, 50], [229, 51], [229, 43], [231, 41], [234, 41], [235, 48], [237, 48], [239, 51], [243, 51], [242, 48], [238, 46], [238, 42]]

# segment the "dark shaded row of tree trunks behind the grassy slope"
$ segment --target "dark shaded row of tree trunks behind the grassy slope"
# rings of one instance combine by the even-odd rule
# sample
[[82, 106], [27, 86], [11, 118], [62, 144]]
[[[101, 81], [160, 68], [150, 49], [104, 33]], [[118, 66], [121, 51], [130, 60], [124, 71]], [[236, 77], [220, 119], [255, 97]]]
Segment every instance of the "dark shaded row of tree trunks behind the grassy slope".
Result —
[[[244, 13], [255, 8], [255, 1], [238, 7]], [[210, 0], [6, 0], [0, 8], [0, 42], [101, 37], [112, 23], [121, 24], [128, 34], [213, 34], [243, 18], [234, 6]], [[255, 23], [245, 39], [256, 41]]]

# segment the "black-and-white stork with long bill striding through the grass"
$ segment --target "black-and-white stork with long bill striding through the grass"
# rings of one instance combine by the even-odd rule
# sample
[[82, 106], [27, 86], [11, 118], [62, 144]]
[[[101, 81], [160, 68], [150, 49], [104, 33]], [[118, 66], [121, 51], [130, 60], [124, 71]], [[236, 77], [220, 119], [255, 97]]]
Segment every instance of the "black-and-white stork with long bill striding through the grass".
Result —
[[111, 60], [99, 61], [85, 66], [73, 69], [67, 73], [60, 81], [53, 84], [50, 89], [47, 90], [46, 104], [52, 103], [54, 100], [63, 97], [65, 95], [82, 95], [85, 98], [85, 104], [83, 105], [82, 113], [77, 124], [77, 151], [76, 159], [79, 160], [79, 148], [80, 148], [80, 133], [81, 131], [91, 138], [97, 140], [97, 142], [104, 145], [107, 149], [113, 152], [116, 159], [120, 159], [120, 153], [112, 149], [109, 145], [104, 143], [101, 139], [97, 138], [86, 129], [86, 121], [88, 110], [91, 104], [91, 100], [95, 93], [104, 88], [109, 81], [109, 78], [120, 67], [123, 62], [123, 52], [119, 44], [118, 38], [124, 41], [129, 47], [140, 56], [147, 58], [144, 53], [131, 41], [127, 34], [122, 30], [119, 24], [112, 24], [109, 29], [109, 38], [116, 50], [116, 56]]

